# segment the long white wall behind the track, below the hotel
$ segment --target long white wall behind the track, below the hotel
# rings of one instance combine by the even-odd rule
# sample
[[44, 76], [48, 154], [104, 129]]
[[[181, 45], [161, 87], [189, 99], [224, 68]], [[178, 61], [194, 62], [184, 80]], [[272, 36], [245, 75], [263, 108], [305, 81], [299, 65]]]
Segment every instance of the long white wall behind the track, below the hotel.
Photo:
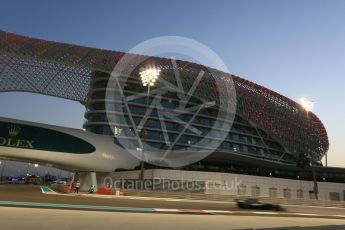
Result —
[[[139, 171], [115, 172], [108, 174], [113, 180], [138, 179]], [[238, 186], [245, 185], [246, 193], [243, 195], [252, 195], [252, 186], [260, 187], [260, 196], [269, 197], [269, 188], [277, 189], [277, 197], [283, 198], [283, 190], [290, 189], [291, 198], [297, 198], [297, 190], [303, 190], [303, 197], [309, 198], [309, 190], [313, 190], [312, 181], [290, 180], [273, 177], [250, 176], [232, 173], [217, 172], [198, 172], [181, 170], [145, 170], [145, 179], [167, 179], [167, 180], [187, 180], [187, 181], [205, 181], [207, 189], [205, 193], [238, 195]], [[318, 182], [319, 199], [329, 200], [330, 192], [338, 192], [340, 200], [344, 200], [343, 192], [345, 183]]]

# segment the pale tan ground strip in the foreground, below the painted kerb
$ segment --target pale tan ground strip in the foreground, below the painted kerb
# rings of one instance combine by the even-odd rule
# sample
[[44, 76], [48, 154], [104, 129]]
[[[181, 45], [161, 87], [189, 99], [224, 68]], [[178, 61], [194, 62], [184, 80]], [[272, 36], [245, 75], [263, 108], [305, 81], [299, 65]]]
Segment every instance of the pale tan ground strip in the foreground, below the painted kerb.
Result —
[[0, 216], [1, 230], [228, 230], [254, 227], [287, 230], [281, 228], [286, 226], [293, 226], [288, 229], [306, 230], [345, 228], [344, 221], [334, 219], [315, 221], [313, 218], [147, 214], [17, 207], [0, 207]]

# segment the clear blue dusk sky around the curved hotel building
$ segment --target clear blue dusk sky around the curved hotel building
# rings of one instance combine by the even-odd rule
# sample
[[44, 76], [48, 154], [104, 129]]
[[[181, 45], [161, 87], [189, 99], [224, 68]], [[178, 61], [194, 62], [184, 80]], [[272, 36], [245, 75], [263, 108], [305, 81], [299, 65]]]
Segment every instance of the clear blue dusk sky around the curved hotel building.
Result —
[[[341, 0], [3, 0], [0, 29], [116, 51], [158, 36], [194, 39], [231, 73], [314, 100], [330, 139], [329, 165], [345, 167], [344, 12]], [[28, 93], [1, 93], [0, 108], [3, 117], [75, 128], [85, 112], [80, 103]]]

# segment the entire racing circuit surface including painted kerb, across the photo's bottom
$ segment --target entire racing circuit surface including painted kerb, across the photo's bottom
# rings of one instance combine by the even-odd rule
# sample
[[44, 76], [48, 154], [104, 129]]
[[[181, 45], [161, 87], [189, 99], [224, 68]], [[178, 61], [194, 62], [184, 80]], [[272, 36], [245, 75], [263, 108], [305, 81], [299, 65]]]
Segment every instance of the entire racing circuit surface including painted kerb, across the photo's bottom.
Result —
[[[116, 223], [117, 226], [119, 224], [123, 226], [124, 228], [122, 229], [139, 227], [140, 223], [143, 223], [145, 220], [151, 220], [151, 222], [149, 221], [151, 225], [145, 224], [147, 229], [150, 229], [150, 227], [152, 229], [153, 223], [155, 223], [154, 226], [156, 227], [169, 229], [176, 226], [167, 226], [166, 224], [175, 223], [176, 221], [182, 221], [181, 223], [191, 226], [190, 229], [224, 229], [224, 227], [226, 227], [225, 229], [241, 229], [252, 226], [267, 228], [291, 225], [327, 225], [327, 228], [318, 227], [315, 229], [345, 229], [344, 208], [284, 206], [285, 212], [272, 215], [272, 212], [243, 211], [238, 209], [233, 202], [126, 196], [114, 197], [87, 194], [44, 194], [40, 186], [31, 185], [1, 185], [0, 197], [0, 205], [2, 206], [0, 207], [2, 216], [0, 222], [2, 226], [8, 226], [8, 229], [14, 226], [14, 223], [18, 223], [13, 222], [14, 220], [10, 213], [15, 213], [15, 216], [20, 216], [21, 219], [28, 219], [26, 222], [20, 222], [23, 228], [30, 222], [34, 224], [36, 220], [36, 218], [32, 217], [33, 215], [26, 213], [36, 213], [39, 219], [47, 218], [51, 224], [62, 224], [59, 216], [64, 219], [65, 217], [63, 216], [68, 214], [68, 222], [74, 223], [81, 228], [85, 226], [91, 228], [91, 226], [94, 226], [97, 229], [103, 228], [97, 227], [99, 222], [95, 218], [97, 220], [104, 219], [101, 226], [113, 226]], [[152, 210], [154, 209], [161, 210], [161, 213], [165, 214], [153, 213], [154, 211]], [[84, 211], [81, 212], [80, 210]], [[184, 211], [177, 212], [174, 210]], [[210, 212], [202, 213], [201, 210], [209, 210]], [[158, 217], [157, 215], [160, 216]], [[80, 221], [81, 216], [88, 217]], [[107, 219], [108, 216], [112, 216], [113, 218]], [[133, 217], [138, 221], [130, 221]], [[92, 222], [91, 220], [94, 221]], [[86, 225], [86, 223], [89, 224]], [[338, 226], [339, 228], [329, 226], [335, 224], [343, 226]], [[62, 229], [72, 229], [63, 226], [61, 226]], [[200, 228], [197, 228], [197, 226]]]

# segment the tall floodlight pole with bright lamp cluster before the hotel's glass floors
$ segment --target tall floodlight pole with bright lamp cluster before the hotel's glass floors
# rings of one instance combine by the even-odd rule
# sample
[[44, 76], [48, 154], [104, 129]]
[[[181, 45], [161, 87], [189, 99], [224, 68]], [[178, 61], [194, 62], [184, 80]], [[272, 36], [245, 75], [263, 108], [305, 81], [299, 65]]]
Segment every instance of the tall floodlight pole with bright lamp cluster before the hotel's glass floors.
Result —
[[[161, 72], [161, 69], [156, 67], [149, 67], [139, 72], [141, 82], [143, 86], [147, 86], [147, 97], [146, 97], [146, 109], [149, 109], [149, 102], [150, 102], [150, 87], [155, 85], [155, 82]], [[149, 115], [149, 114], [148, 114]], [[144, 180], [144, 144], [142, 144], [141, 148], [141, 161], [140, 161], [140, 180]]]

